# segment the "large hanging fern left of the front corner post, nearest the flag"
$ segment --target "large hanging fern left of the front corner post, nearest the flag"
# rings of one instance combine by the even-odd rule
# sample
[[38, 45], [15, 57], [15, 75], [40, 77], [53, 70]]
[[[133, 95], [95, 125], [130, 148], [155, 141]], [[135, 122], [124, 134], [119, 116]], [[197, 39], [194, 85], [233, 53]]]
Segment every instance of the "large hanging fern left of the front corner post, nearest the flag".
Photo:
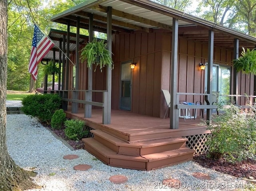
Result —
[[92, 68], [92, 64], [95, 64], [95, 70], [97, 66], [100, 66], [100, 71], [104, 66], [108, 66], [113, 69], [113, 61], [111, 58], [111, 52], [107, 49], [107, 44], [103, 39], [93, 39], [92, 42], [88, 42], [81, 51], [81, 61], [87, 61], [87, 67]]

